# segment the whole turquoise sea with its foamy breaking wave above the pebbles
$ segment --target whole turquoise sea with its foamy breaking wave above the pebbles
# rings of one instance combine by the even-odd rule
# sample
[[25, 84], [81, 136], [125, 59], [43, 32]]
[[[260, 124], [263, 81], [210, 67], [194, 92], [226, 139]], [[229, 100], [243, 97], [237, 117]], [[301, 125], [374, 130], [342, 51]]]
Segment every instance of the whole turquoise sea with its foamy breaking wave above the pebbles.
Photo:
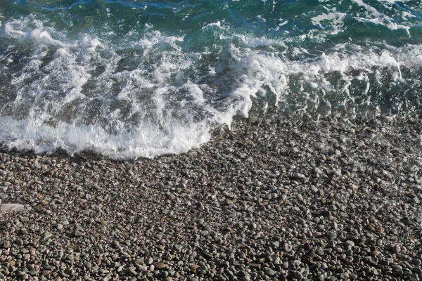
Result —
[[127, 159], [251, 110], [420, 115], [421, 66], [414, 0], [2, 0], [0, 142]]

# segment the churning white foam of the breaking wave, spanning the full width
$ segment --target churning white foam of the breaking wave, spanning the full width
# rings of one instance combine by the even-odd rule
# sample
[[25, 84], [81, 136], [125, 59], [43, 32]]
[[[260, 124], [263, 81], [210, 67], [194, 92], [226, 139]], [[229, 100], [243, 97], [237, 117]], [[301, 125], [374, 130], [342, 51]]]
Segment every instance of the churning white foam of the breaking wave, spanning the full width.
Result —
[[[314, 24], [341, 24], [343, 16], [322, 15]], [[310, 55], [288, 49], [281, 39], [224, 33], [219, 22], [202, 32], [209, 29], [213, 40], [232, 39], [226, 55], [186, 52], [184, 37], [150, 25], [139, 38], [129, 34], [115, 44], [92, 34], [68, 39], [34, 18], [6, 22], [2, 36], [34, 46], [12, 75], [15, 98], [0, 109], [0, 142], [34, 152], [91, 150], [115, 159], [180, 153], [207, 142], [218, 124], [248, 117], [258, 96], [266, 106], [294, 103], [296, 110], [324, 107], [329, 114], [337, 103], [330, 94], [340, 97], [338, 103], [357, 103], [382, 82], [381, 72], [406, 83], [402, 70], [422, 66], [422, 46], [340, 44]], [[276, 48], [288, 51], [271, 51]], [[119, 53], [128, 49], [136, 55]]]

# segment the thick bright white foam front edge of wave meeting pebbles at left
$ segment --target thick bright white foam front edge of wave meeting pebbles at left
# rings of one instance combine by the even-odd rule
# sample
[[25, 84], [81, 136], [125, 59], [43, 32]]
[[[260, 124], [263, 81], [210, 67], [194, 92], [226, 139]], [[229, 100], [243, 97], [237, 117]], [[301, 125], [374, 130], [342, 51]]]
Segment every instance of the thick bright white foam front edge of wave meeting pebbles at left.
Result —
[[129, 133], [110, 134], [98, 126], [59, 123], [53, 127], [34, 119], [0, 119], [1, 143], [36, 153], [60, 148], [70, 155], [88, 150], [114, 159], [133, 159], [186, 152], [210, 139], [210, 129], [206, 126], [184, 126], [171, 121], [167, 123], [170, 131], [139, 126]]

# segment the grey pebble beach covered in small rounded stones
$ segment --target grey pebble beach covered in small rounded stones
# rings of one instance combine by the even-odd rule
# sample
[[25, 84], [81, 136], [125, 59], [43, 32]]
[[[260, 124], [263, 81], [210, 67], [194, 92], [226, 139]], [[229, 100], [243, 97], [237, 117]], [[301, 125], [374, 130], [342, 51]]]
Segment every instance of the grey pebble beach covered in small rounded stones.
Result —
[[419, 280], [421, 122], [238, 120], [181, 155], [0, 153], [0, 280]]

